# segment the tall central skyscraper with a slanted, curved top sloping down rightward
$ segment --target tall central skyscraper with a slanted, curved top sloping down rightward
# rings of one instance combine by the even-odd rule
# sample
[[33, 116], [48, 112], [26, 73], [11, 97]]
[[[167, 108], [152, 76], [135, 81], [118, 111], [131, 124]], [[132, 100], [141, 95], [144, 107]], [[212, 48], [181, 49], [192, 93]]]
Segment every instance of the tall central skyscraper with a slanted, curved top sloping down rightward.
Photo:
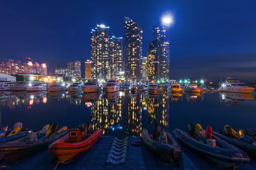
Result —
[[125, 77], [142, 78], [142, 29], [131, 18], [125, 17]]

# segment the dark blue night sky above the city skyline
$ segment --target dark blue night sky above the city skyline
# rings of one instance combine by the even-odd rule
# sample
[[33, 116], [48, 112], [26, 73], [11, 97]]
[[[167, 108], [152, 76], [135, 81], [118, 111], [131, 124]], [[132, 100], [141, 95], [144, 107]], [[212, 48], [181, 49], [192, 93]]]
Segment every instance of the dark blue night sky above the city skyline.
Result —
[[45, 62], [48, 70], [68, 61], [90, 59], [90, 31], [110, 26], [110, 36], [124, 36], [124, 16], [143, 28], [143, 55], [152, 26], [172, 13], [170, 60], [174, 78], [231, 76], [256, 79], [256, 1], [98, 0], [0, 1], [0, 61]]

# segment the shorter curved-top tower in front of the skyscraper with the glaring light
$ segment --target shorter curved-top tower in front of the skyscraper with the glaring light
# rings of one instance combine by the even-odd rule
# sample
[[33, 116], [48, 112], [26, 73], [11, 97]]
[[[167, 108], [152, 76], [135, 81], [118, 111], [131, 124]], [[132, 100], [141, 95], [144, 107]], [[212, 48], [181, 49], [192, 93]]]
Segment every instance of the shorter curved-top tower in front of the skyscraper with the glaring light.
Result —
[[148, 79], [157, 81], [159, 78], [159, 61], [158, 61], [158, 40], [151, 41], [148, 45]]

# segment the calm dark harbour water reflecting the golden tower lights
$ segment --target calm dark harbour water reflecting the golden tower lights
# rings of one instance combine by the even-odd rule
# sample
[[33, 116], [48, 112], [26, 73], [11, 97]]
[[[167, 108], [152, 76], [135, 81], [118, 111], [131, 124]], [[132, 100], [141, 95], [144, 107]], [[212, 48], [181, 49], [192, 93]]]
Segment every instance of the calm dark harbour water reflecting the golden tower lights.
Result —
[[139, 136], [140, 130], [152, 130], [157, 123], [172, 131], [183, 130], [188, 123], [211, 125], [213, 130], [230, 125], [234, 129], [254, 128], [256, 101], [253, 94], [158, 92], [152, 96], [138, 91], [112, 94], [83, 92], [0, 92], [1, 128], [22, 122], [28, 129], [41, 129], [58, 123], [68, 128], [91, 122], [105, 135], [122, 139]]

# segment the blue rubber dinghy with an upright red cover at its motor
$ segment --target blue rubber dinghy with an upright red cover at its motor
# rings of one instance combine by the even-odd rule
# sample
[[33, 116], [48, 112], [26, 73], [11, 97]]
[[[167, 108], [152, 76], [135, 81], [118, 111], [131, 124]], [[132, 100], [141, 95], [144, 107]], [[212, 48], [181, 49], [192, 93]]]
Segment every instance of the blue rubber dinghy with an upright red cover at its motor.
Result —
[[173, 130], [182, 142], [198, 151], [222, 167], [246, 164], [250, 161], [249, 156], [237, 147], [212, 136], [212, 127], [207, 126], [207, 135], [200, 124], [189, 124], [188, 133], [180, 129]]

